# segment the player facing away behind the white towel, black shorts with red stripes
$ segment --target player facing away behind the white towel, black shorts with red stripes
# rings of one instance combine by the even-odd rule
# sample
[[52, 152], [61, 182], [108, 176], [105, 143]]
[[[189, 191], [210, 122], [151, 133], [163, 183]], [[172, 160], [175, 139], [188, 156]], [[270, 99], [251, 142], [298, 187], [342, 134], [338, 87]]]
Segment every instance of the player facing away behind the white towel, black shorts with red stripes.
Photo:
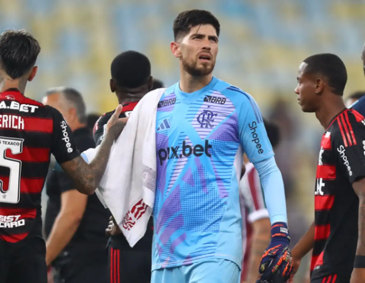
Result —
[[[153, 81], [149, 59], [137, 51], [125, 51], [117, 55], [111, 63], [110, 90], [123, 105], [119, 117], [127, 117], [138, 101], [149, 92], [153, 85], [162, 87], [162, 82]], [[96, 145], [101, 143], [105, 125], [114, 111], [105, 113], [97, 120], [94, 127]], [[105, 226], [108, 221], [105, 222]], [[105, 228], [104, 226], [104, 228]], [[151, 281], [151, 249], [153, 236], [152, 217], [147, 231], [141, 240], [130, 247], [126, 238], [111, 217], [106, 233], [108, 241], [108, 282], [113, 283], [150, 283]]]

